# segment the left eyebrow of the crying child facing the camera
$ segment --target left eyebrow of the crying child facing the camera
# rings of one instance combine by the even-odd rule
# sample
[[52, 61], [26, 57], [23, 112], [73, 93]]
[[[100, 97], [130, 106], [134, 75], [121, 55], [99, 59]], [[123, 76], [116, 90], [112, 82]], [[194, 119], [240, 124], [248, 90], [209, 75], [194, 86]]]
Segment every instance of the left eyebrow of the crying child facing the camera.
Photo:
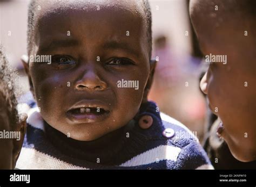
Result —
[[49, 44], [42, 44], [38, 48], [38, 52], [46, 52], [46, 51], [52, 51], [53, 49], [60, 48], [60, 47], [72, 47], [79, 45], [79, 41], [75, 39], [55, 39], [52, 40]]

